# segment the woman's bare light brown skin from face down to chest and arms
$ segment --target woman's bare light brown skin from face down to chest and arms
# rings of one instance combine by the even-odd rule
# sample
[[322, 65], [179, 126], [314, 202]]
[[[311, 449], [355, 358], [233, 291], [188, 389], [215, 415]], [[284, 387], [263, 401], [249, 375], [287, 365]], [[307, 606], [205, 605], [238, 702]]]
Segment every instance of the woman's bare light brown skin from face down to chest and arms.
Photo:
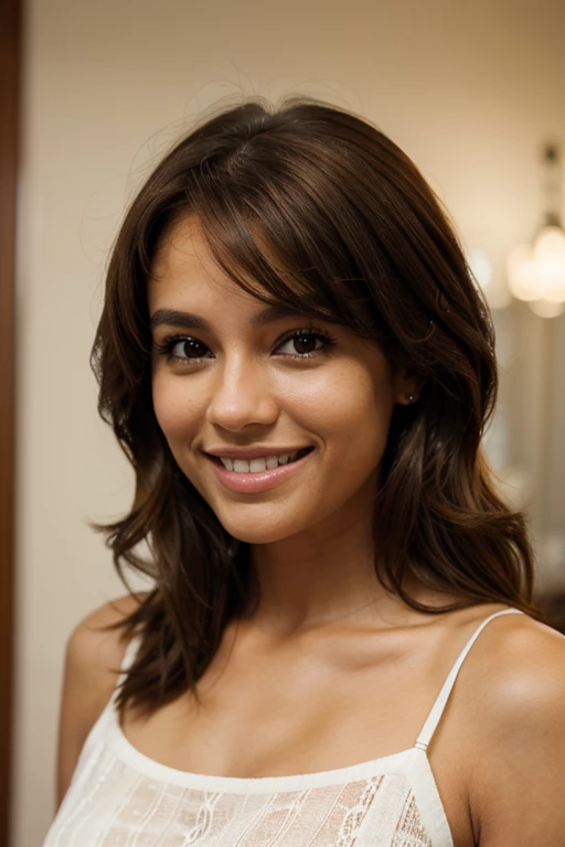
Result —
[[[223, 526], [252, 545], [262, 600], [237, 633], [226, 631], [199, 683], [202, 709], [185, 695], [149, 720], [128, 710], [127, 738], [178, 770], [244, 778], [334, 770], [411, 748], [466, 641], [502, 608], [425, 615], [375, 578], [380, 461], [394, 406], [417, 396], [417, 380], [347, 328], [328, 326], [337, 344], [308, 361], [280, 341], [308, 321], [254, 329], [264, 305], [222, 277], [189, 222], [161, 245], [148, 300], [151, 314], [190, 311], [212, 324], [184, 332], [204, 345], [201, 362], [154, 355], [154, 409], [179, 467]], [[157, 328], [154, 341], [168, 332], [182, 331]], [[200, 452], [254, 444], [316, 451], [255, 495], [224, 489]], [[423, 602], [454, 599], [407, 588]], [[103, 607], [70, 639], [60, 801], [125, 650], [117, 633], [94, 626], [134, 602]], [[563, 846], [564, 704], [565, 639], [525, 615], [492, 621], [429, 749], [456, 847]]]

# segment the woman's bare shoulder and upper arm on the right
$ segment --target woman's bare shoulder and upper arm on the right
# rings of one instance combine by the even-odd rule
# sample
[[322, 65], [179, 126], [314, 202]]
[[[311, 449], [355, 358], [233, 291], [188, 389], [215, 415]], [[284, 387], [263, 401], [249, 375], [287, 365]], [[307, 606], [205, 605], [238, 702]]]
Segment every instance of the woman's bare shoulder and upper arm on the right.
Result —
[[565, 636], [526, 615], [504, 615], [471, 653], [460, 690], [479, 844], [557, 847], [565, 830]]

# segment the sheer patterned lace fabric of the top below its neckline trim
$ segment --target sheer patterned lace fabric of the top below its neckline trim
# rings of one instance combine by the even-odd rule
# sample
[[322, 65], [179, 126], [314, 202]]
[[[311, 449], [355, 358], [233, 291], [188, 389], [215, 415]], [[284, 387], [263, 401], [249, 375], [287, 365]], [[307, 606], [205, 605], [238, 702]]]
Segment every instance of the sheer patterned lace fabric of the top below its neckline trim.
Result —
[[44, 847], [433, 847], [399, 773], [237, 794], [159, 781], [104, 746], [85, 764]]

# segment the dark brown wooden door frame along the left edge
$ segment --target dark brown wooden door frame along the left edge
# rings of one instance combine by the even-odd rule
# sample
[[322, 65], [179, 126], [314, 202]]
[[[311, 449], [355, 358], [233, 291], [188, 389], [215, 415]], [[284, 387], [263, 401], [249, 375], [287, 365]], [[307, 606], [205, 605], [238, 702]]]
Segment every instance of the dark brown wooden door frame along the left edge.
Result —
[[0, 847], [10, 844], [15, 573], [15, 224], [22, 2], [0, 2]]

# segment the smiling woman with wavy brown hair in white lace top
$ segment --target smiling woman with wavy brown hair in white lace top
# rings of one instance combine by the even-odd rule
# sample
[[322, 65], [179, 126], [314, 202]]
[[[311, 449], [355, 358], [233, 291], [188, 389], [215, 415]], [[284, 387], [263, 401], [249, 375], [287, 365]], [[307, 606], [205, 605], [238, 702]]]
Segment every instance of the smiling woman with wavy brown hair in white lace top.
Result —
[[127, 213], [93, 366], [136, 472], [96, 528], [156, 582], [70, 639], [46, 845], [562, 845], [565, 641], [408, 158], [316, 100], [209, 117]]

